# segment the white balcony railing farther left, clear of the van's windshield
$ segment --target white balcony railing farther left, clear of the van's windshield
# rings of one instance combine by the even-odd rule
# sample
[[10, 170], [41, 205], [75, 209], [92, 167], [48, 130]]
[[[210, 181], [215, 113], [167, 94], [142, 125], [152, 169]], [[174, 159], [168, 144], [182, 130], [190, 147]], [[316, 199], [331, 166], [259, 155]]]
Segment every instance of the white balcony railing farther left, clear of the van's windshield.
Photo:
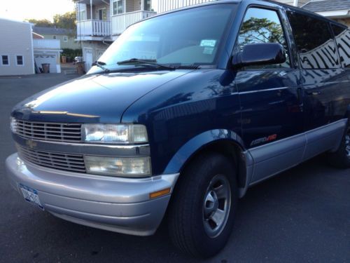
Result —
[[111, 36], [111, 21], [78, 21], [76, 32], [78, 36]]

